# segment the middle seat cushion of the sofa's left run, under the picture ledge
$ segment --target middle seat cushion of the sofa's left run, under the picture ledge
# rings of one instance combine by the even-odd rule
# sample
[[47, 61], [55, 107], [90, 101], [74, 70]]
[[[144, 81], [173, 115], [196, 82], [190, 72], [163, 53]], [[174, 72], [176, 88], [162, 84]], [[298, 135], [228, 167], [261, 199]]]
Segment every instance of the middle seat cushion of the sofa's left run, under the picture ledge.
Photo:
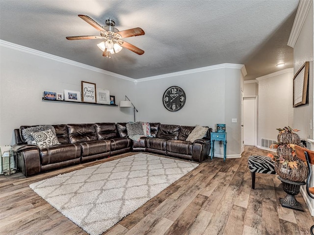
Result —
[[80, 143], [82, 149], [82, 157], [97, 155], [110, 152], [111, 143], [108, 140], [88, 141]]

